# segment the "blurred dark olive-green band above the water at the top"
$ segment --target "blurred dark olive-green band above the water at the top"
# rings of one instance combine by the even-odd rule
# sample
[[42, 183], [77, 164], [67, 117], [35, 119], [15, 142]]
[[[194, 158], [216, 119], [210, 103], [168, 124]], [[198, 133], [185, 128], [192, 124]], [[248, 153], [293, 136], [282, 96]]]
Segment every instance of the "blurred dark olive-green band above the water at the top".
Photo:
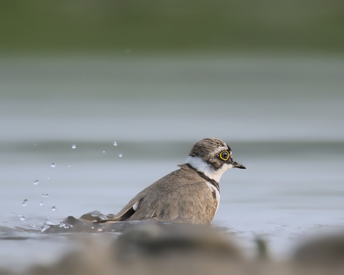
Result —
[[344, 50], [338, 0], [1, 1], [2, 52]]

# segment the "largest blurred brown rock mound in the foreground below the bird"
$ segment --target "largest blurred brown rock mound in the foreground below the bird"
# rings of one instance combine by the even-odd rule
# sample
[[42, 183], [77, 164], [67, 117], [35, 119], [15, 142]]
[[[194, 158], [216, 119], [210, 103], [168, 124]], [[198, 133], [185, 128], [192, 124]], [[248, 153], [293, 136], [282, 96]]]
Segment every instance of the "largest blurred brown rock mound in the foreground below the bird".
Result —
[[142, 221], [115, 240], [108, 233], [92, 237], [58, 263], [28, 274], [243, 274], [243, 255], [212, 226]]

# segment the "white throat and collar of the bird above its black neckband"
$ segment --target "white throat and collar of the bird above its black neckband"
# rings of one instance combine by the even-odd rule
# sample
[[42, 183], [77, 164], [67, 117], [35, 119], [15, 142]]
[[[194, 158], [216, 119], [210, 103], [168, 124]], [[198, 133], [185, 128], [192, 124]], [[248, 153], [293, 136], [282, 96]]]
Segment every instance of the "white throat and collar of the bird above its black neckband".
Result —
[[225, 173], [226, 170], [233, 167], [232, 164], [224, 164], [220, 169], [214, 170], [213, 167], [206, 163], [202, 158], [193, 156], [189, 156], [186, 159], [186, 163], [190, 164], [196, 170], [202, 172], [208, 178], [215, 180], [217, 183], [220, 181], [222, 174]]

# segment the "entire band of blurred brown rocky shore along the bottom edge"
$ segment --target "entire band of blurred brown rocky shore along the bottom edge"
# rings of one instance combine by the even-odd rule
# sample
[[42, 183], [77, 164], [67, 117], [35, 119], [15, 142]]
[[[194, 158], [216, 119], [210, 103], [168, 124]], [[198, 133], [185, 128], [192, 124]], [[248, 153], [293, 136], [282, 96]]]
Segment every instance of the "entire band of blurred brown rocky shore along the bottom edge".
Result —
[[[108, 229], [110, 224], [114, 223]], [[306, 243], [293, 259], [277, 262], [269, 257], [249, 259], [228, 233], [213, 226], [142, 221], [120, 229], [124, 232], [119, 236], [73, 233], [69, 237], [81, 241], [74, 252], [23, 274], [344, 274], [344, 235]]]

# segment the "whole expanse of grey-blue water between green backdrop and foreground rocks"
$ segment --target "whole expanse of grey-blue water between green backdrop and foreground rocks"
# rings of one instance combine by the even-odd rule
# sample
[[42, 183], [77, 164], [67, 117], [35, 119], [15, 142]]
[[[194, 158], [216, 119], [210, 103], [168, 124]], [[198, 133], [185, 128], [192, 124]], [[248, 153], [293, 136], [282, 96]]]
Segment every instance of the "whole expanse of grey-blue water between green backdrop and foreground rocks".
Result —
[[[44, 224], [117, 213], [208, 136], [225, 140], [247, 167], [222, 176], [213, 225], [233, 232], [248, 254], [257, 235], [285, 257], [305, 236], [343, 229], [343, 68], [336, 60], [140, 60], [124, 68], [113, 59], [54, 60], [0, 63], [0, 267], [58, 260], [80, 233], [42, 232]], [[77, 229], [93, 232], [89, 226]], [[95, 229], [89, 238], [104, 233]]]

